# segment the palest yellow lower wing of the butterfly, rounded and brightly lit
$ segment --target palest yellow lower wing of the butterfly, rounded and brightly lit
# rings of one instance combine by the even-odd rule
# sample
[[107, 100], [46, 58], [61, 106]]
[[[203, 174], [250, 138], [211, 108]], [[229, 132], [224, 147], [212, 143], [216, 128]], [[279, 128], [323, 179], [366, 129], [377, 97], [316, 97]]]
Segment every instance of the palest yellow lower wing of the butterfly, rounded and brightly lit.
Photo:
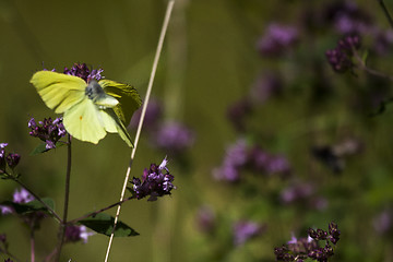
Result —
[[85, 97], [64, 112], [63, 124], [67, 132], [78, 140], [97, 144], [106, 135], [102, 111]]

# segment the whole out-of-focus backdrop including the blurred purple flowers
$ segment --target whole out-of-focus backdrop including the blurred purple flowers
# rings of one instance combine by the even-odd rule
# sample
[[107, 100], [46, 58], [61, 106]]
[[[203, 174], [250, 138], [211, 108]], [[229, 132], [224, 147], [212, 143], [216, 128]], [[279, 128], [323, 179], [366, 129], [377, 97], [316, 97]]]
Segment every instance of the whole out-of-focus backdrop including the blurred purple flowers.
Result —
[[[0, 143], [22, 155], [24, 183], [61, 210], [66, 147], [28, 155], [37, 140], [27, 121], [56, 118], [28, 80], [86, 62], [143, 97], [166, 1], [0, 4]], [[338, 43], [347, 36], [359, 45]], [[177, 189], [123, 205], [121, 221], [140, 236], [115, 239], [111, 261], [274, 261], [275, 247], [332, 221], [332, 261], [392, 261], [392, 48], [379, 1], [177, 0], [153, 90], [159, 120], [132, 167], [140, 177], [168, 155]], [[163, 131], [176, 122], [175, 134]], [[122, 141], [75, 141], [73, 154], [70, 217], [117, 202], [130, 155]], [[14, 188], [1, 181], [1, 199]], [[37, 234], [37, 255], [56, 228]], [[29, 257], [16, 221], [1, 217], [0, 233]], [[69, 245], [63, 258], [103, 260], [107, 241]]]

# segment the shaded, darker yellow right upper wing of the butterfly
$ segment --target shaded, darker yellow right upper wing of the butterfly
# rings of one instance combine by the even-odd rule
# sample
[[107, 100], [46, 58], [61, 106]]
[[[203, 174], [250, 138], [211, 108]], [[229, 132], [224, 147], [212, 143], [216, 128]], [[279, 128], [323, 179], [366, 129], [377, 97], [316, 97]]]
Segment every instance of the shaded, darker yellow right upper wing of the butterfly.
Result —
[[100, 80], [98, 82], [106, 94], [115, 97], [119, 104], [114, 107], [117, 117], [128, 126], [132, 114], [142, 105], [142, 99], [136, 90], [128, 84], [117, 83], [111, 80]]

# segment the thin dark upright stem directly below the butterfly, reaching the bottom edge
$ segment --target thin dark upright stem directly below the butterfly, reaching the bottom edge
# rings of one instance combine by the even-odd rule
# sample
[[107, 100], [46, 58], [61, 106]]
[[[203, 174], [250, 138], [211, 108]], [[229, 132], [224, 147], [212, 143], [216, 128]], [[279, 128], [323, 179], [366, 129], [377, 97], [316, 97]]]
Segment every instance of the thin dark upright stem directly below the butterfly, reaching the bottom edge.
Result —
[[66, 234], [66, 228], [67, 228], [68, 206], [69, 206], [69, 198], [70, 198], [70, 179], [71, 179], [71, 135], [68, 134], [64, 210], [63, 210], [63, 218], [62, 218], [60, 227], [59, 227], [58, 247], [57, 247], [57, 250], [56, 250], [56, 260], [55, 261], [60, 261], [61, 248], [62, 248], [62, 245], [64, 242], [64, 234]]

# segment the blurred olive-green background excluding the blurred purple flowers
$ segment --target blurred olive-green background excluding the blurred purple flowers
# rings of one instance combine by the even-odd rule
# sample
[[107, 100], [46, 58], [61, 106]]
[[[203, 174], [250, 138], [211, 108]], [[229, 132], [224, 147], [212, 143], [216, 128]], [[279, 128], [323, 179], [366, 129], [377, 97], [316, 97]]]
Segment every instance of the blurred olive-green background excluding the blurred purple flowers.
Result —
[[[336, 261], [393, 261], [389, 249], [392, 238], [378, 236], [371, 223], [393, 199], [392, 112], [368, 118], [372, 108], [358, 109], [352, 104], [354, 97], [372, 88], [365, 73], [335, 74], [327, 62], [322, 62], [321, 70], [334, 88], [333, 95], [323, 103], [312, 100], [313, 81], [321, 76], [314, 74], [311, 60], [324, 61], [324, 51], [334, 48], [340, 37], [331, 31], [301, 38], [296, 51], [281, 59], [262, 58], [255, 49], [267, 23], [300, 26], [306, 10], [329, 2], [176, 1], [152, 96], [163, 103], [165, 119], [182, 121], [194, 130], [195, 143], [184, 153], [188, 168], [169, 159], [177, 186], [171, 196], [123, 205], [121, 221], [141, 235], [116, 238], [110, 261], [274, 261], [273, 248], [289, 240], [291, 231], [305, 236], [299, 228], [326, 229], [330, 221], [335, 221], [343, 234]], [[22, 180], [38, 195], [53, 198], [58, 211], [62, 210], [66, 147], [29, 156], [38, 141], [28, 135], [27, 121], [55, 116], [28, 83], [32, 74], [43, 67], [61, 71], [74, 62], [85, 62], [103, 68], [107, 79], [134, 85], [143, 97], [166, 3], [0, 1], [0, 142], [22, 155]], [[380, 27], [389, 27], [378, 1], [356, 3]], [[386, 4], [393, 8], [393, 1]], [[392, 73], [391, 59], [389, 52], [372, 60], [371, 66]], [[259, 107], [250, 126], [260, 131], [270, 151], [287, 155], [296, 176], [305, 180], [311, 177], [330, 187], [323, 191], [331, 204], [325, 212], [296, 206], [277, 212], [263, 192], [248, 199], [245, 189], [212, 178], [225, 147], [238, 136], [226, 118], [228, 106], [245, 97], [262, 72], [277, 70], [286, 85], [284, 94]], [[132, 130], [131, 135], [134, 133]], [[311, 159], [312, 145], [336, 143], [348, 135], [359, 138], [365, 150], [340, 176]], [[118, 201], [130, 153], [112, 134], [98, 145], [73, 143], [70, 218]], [[143, 168], [159, 164], [165, 155], [151, 146], [148, 136], [142, 136], [131, 176], [141, 176]], [[281, 189], [277, 183], [273, 181], [272, 187]], [[11, 199], [14, 189], [11, 181], [1, 181], [1, 199]], [[210, 252], [217, 242], [195, 227], [195, 212], [202, 204], [213, 206], [218, 224], [227, 228], [217, 238], [224, 242], [230, 235], [231, 219], [252, 217], [266, 223], [267, 231], [248, 246], [214, 257]], [[53, 222], [43, 224], [37, 234], [37, 258], [52, 249], [56, 228]], [[28, 230], [20, 221], [2, 217], [0, 233], [8, 234], [13, 253], [29, 258]], [[86, 245], [68, 245], [62, 261], [104, 260], [107, 243], [107, 237], [96, 235]]]

